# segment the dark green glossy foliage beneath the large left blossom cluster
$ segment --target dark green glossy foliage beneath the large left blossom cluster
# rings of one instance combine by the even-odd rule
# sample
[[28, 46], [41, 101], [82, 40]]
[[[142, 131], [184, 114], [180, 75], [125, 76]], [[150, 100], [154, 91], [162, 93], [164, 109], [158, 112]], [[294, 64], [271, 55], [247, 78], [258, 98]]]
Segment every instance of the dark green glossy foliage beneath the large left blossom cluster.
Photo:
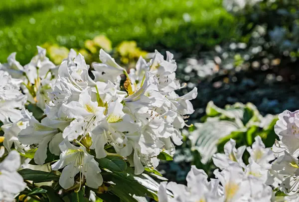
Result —
[[[52, 172], [23, 169], [18, 173], [23, 177], [30, 190], [26, 189], [19, 196], [24, 195], [24, 198], [32, 197], [33, 199], [34, 196], [37, 196], [42, 201], [47, 199], [49, 202], [87, 202], [92, 190], [99, 202], [101, 200], [107, 202], [143, 202], [146, 200], [145, 197], [157, 201], [158, 183], [149, 175], [165, 180], [158, 171], [146, 169], [143, 174], [135, 175], [134, 169], [127, 166], [128, 162], [118, 156], [107, 156], [97, 160], [104, 179], [103, 185], [98, 189], [83, 187], [83, 184], [81, 186], [75, 184], [69, 190], [58, 193], [60, 190], [58, 175]], [[33, 181], [33, 183], [30, 184], [28, 181]], [[52, 185], [35, 187], [35, 183], [40, 182], [52, 182]], [[74, 190], [76, 191], [74, 192]]]

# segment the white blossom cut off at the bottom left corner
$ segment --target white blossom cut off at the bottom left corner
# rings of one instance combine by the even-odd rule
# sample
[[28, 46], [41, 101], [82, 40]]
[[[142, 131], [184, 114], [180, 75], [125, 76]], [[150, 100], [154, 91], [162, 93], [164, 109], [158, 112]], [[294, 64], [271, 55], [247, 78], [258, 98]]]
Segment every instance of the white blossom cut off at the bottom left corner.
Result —
[[23, 191], [26, 184], [17, 173], [20, 167], [20, 155], [17, 151], [9, 152], [8, 156], [0, 162], [0, 201], [14, 202], [14, 197]]

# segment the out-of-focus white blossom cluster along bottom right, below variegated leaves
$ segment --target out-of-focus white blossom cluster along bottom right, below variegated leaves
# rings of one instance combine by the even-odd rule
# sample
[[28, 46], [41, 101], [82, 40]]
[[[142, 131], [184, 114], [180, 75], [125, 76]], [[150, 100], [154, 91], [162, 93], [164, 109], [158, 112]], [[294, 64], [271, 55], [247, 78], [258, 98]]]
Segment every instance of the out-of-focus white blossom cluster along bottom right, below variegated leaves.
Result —
[[[191, 167], [187, 175], [187, 186], [174, 182], [162, 182], [158, 191], [159, 202], [270, 202], [273, 197], [273, 178], [269, 175], [270, 161], [275, 159], [271, 148], [265, 148], [260, 136], [252, 147], [236, 149], [235, 140], [224, 145], [224, 154], [213, 156], [216, 179], [208, 181], [207, 174]], [[247, 149], [249, 164], [242, 160]], [[173, 197], [168, 192], [171, 191]]]

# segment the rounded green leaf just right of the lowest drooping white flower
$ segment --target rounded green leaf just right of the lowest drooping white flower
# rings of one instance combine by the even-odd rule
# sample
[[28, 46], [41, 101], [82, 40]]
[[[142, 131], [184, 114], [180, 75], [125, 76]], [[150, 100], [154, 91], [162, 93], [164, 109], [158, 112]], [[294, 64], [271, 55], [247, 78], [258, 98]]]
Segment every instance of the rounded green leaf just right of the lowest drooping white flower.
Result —
[[105, 158], [96, 159], [99, 165], [110, 171], [122, 172], [127, 169], [127, 163], [118, 156], [106, 156]]

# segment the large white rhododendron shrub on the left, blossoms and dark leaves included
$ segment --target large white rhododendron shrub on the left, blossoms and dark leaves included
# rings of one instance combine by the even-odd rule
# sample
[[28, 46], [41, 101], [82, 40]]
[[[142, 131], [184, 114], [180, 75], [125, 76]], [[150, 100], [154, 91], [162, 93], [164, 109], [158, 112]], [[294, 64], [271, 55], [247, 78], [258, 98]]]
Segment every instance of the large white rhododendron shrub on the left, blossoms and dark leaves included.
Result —
[[90, 72], [74, 50], [56, 67], [37, 48], [24, 67], [15, 53], [0, 66], [0, 201], [157, 200], [150, 176], [182, 143], [197, 96], [174, 92], [184, 85], [173, 55], [141, 57], [128, 74], [102, 49]]

